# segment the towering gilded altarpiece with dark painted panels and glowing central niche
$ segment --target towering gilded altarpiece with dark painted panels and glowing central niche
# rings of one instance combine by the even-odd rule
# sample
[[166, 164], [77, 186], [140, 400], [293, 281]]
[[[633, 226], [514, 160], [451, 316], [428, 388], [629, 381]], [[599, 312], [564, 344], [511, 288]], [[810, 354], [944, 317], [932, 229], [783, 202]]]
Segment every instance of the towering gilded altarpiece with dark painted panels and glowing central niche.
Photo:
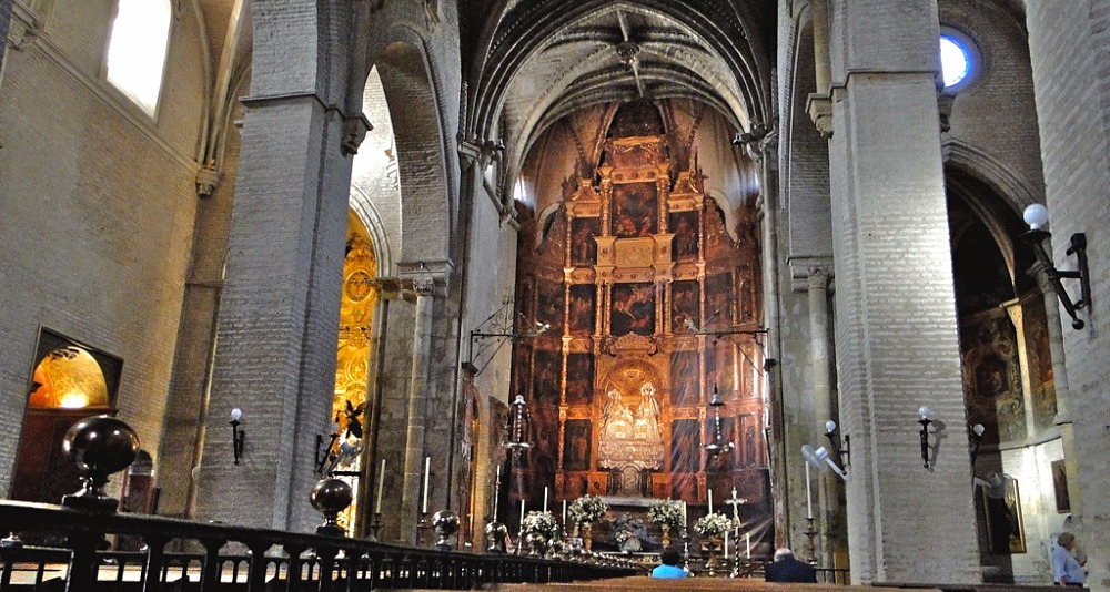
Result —
[[[522, 231], [518, 329], [547, 328], [514, 346], [535, 441], [516, 504], [537, 507], [545, 488], [556, 501], [670, 498], [693, 523], [709, 488], [717, 503], [736, 488], [746, 520], [770, 514], [755, 217], [728, 216], [730, 235], [696, 157], [672, 162], [668, 139], [610, 130], [595, 174]], [[718, 458], [703, 448], [714, 389], [735, 443]]]

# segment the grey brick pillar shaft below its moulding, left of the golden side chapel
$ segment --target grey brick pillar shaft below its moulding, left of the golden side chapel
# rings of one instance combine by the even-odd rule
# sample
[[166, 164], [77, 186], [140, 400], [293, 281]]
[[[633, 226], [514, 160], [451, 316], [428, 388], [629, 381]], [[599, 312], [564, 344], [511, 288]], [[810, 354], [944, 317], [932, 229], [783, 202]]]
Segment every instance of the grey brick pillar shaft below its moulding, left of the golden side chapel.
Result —
[[[243, 100], [242, 159], [206, 402], [195, 518], [311, 531], [347, 224], [343, 116], [314, 92]], [[228, 415], [243, 409], [243, 458]], [[244, 501], [250, 501], [245, 503]]]

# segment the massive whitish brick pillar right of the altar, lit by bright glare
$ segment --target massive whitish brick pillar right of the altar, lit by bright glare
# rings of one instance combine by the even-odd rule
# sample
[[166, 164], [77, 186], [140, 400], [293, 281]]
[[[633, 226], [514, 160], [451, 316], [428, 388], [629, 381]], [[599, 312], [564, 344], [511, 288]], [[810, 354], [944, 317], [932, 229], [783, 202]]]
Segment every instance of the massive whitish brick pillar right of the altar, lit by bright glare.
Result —
[[[938, 133], [936, 2], [831, 0], [829, 143], [854, 584], [980, 582]], [[925, 468], [917, 409], [934, 411]], [[935, 460], [931, 460], [935, 458]]]

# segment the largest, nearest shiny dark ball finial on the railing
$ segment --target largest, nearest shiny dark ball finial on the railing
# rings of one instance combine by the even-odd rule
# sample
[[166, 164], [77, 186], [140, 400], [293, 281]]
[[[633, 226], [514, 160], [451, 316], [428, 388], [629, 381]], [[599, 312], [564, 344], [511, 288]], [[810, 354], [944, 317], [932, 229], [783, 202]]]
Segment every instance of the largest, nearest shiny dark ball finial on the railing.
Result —
[[62, 498], [62, 506], [114, 511], [119, 502], [104, 493], [104, 484], [110, 474], [134, 462], [139, 448], [135, 431], [114, 417], [93, 416], [74, 423], [65, 432], [62, 451], [81, 473], [83, 489]]

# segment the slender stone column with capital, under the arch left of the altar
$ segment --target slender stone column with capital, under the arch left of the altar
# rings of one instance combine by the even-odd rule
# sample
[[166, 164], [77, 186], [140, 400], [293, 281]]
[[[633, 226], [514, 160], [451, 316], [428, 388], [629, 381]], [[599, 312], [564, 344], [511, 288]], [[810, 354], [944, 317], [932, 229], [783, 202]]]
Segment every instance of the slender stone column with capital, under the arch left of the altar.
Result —
[[[401, 490], [401, 537], [404, 542], [416, 540], [421, 494], [424, 492], [424, 432], [428, 372], [432, 351], [432, 308], [435, 305], [435, 278], [431, 275], [413, 279], [416, 293], [416, 319], [413, 329], [413, 374], [408, 382], [408, 412], [405, 436], [405, 480]], [[431, 483], [427, 484], [431, 487]], [[431, 510], [431, 508], [428, 508]], [[411, 527], [411, 528], [410, 528]]]

